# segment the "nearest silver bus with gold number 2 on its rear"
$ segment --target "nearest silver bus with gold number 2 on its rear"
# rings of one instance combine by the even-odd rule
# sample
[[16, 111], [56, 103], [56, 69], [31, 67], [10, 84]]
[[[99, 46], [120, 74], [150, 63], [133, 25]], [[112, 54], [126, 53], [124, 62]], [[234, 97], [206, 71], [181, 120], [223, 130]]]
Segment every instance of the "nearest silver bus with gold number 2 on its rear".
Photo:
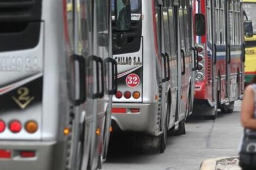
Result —
[[117, 91], [110, 2], [0, 7], [0, 169], [100, 168]]

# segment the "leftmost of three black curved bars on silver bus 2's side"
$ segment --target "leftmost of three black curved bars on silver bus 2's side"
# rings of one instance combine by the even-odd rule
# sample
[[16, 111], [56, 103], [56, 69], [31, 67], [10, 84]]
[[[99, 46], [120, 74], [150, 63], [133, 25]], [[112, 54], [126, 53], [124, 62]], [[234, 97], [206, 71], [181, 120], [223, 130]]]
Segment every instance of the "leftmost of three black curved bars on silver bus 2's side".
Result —
[[74, 61], [78, 62], [79, 66], [79, 94], [80, 97], [75, 99], [75, 105], [81, 105], [86, 102], [86, 59], [82, 55], [73, 55]]

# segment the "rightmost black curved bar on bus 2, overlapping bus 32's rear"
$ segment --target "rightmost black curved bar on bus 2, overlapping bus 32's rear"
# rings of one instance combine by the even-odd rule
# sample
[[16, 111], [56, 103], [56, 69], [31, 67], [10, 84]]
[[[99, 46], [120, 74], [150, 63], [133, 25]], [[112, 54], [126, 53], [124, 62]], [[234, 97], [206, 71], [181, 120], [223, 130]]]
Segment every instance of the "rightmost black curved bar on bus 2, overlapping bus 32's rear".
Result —
[[112, 69], [112, 88], [107, 90], [108, 95], [115, 95], [117, 93], [117, 61], [115, 61], [113, 58], [108, 57], [105, 59], [105, 65], [111, 64]]

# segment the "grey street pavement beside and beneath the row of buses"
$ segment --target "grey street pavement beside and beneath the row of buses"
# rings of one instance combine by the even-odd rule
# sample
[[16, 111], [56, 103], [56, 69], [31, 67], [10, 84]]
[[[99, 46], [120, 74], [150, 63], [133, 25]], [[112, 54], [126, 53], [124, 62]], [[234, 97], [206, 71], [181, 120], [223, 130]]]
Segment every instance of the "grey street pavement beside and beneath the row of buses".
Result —
[[215, 121], [190, 118], [186, 135], [169, 136], [163, 154], [136, 152], [125, 141], [110, 148], [103, 170], [198, 170], [206, 159], [237, 156], [242, 128], [240, 102], [233, 114], [218, 113]]

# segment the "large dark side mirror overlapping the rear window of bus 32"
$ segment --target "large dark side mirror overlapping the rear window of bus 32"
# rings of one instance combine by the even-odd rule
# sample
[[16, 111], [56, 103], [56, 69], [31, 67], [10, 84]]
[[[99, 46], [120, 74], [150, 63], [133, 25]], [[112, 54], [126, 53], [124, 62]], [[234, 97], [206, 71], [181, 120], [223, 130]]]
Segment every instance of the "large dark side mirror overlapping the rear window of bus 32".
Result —
[[116, 26], [120, 31], [131, 29], [131, 2], [130, 0], [115, 0]]

